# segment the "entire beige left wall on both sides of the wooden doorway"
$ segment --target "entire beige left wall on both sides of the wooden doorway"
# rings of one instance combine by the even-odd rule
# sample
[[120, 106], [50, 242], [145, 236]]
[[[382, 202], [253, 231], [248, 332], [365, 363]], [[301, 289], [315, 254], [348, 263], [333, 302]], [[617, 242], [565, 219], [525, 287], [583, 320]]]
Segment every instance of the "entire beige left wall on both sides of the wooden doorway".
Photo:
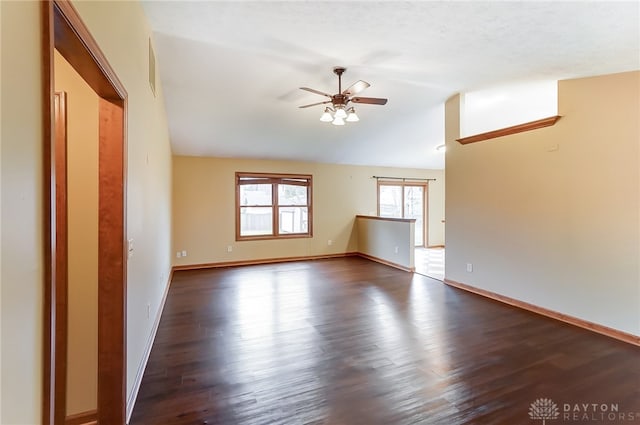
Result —
[[[171, 148], [161, 87], [149, 89], [151, 31], [138, 2], [74, 2], [128, 93], [127, 395], [149, 344], [171, 266]], [[40, 5], [2, 10], [2, 417], [35, 424], [42, 384]], [[117, 31], [114, 31], [117, 28]], [[147, 317], [147, 305], [151, 310]], [[18, 325], [19, 324], [19, 325]]]

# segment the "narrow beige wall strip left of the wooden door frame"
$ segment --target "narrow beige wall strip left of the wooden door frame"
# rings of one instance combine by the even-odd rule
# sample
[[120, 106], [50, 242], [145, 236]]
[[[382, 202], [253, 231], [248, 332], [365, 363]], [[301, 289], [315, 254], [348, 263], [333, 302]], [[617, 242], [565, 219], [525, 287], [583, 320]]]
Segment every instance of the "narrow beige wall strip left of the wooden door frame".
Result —
[[2, 424], [40, 423], [42, 120], [40, 5], [0, 2]]

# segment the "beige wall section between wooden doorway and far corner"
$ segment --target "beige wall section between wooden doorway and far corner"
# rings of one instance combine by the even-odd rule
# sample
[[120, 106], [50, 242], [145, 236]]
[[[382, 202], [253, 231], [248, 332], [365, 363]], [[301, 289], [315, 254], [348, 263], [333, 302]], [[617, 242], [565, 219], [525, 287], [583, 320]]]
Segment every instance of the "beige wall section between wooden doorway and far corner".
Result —
[[74, 5], [128, 94], [127, 238], [133, 239], [134, 247], [127, 265], [127, 395], [131, 401], [171, 266], [168, 125], [160, 77], [157, 96], [149, 87], [152, 34], [141, 4], [74, 1]]

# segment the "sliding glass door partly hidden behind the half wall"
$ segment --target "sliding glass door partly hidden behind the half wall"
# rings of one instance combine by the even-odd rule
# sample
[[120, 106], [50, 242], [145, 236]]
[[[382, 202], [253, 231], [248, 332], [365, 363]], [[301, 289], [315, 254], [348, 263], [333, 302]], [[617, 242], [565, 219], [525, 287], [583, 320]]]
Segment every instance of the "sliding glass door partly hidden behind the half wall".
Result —
[[378, 215], [415, 219], [416, 246], [427, 245], [426, 193], [426, 183], [378, 182]]

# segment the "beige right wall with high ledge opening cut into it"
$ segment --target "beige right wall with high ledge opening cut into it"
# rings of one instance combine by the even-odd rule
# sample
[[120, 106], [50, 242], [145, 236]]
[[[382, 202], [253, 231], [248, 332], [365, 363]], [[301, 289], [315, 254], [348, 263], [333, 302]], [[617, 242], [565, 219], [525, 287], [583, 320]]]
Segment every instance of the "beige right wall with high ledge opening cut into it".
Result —
[[446, 277], [640, 335], [640, 73], [558, 97], [555, 126], [467, 146], [448, 102]]

